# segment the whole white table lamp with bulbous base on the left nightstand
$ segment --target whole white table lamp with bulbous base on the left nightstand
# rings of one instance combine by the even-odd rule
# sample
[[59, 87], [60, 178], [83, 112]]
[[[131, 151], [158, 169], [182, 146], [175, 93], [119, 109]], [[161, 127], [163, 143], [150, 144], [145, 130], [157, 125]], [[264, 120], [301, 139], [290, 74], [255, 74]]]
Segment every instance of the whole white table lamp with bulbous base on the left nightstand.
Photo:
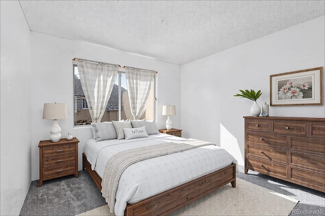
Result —
[[50, 129], [50, 139], [52, 142], [58, 142], [61, 138], [61, 128], [58, 124], [58, 119], [67, 119], [68, 111], [65, 103], [44, 103], [43, 119], [53, 120], [53, 125]]

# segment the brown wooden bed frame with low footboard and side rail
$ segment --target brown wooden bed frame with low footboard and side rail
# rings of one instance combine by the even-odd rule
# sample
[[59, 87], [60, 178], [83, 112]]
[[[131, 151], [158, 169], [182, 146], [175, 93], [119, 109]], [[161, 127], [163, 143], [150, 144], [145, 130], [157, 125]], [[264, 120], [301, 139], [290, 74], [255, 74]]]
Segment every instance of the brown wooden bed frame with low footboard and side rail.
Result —
[[[82, 153], [82, 170], [85, 168], [96, 186], [102, 191], [102, 178], [91, 170], [91, 164], [86, 155]], [[235, 163], [145, 200], [127, 204], [124, 215], [168, 215], [228, 183], [236, 188]]]

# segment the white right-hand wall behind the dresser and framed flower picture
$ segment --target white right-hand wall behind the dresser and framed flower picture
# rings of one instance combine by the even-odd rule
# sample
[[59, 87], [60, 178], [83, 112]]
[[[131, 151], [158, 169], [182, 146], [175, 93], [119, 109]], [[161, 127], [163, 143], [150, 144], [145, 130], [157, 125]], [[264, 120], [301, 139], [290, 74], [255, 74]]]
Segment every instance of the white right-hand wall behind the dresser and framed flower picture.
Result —
[[[243, 116], [253, 101], [233, 95], [261, 89], [257, 102], [270, 104], [270, 75], [324, 66], [324, 41], [321, 16], [182, 65], [182, 135], [218, 143], [244, 165]], [[325, 109], [271, 106], [270, 116], [324, 118]]]

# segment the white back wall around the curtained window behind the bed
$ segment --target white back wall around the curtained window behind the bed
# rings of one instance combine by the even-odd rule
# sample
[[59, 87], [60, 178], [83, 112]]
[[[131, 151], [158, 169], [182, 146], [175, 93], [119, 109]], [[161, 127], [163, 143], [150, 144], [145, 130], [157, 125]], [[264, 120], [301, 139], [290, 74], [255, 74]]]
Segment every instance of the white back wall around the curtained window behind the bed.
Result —
[[[82, 33], [82, 32], [80, 32]], [[84, 58], [95, 61], [153, 69], [157, 79], [157, 127], [166, 127], [161, 116], [165, 104], [176, 105], [180, 113], [180, 66], [91, 44], [53, 37], [31, 31], [31, 179], [39, 179], [40, 140], [49, 139], [51, 120], [43, 120], [43, 103], [67, 103], [68, 119], [59, 120], [62, 138], [71, 132], [79, 142], [79, 170], [86, 140], [92, 137], [91, 128], [73, 127], [73, 62]], [[173, 126], [180, 127], [180, 115], [173, 116]]]

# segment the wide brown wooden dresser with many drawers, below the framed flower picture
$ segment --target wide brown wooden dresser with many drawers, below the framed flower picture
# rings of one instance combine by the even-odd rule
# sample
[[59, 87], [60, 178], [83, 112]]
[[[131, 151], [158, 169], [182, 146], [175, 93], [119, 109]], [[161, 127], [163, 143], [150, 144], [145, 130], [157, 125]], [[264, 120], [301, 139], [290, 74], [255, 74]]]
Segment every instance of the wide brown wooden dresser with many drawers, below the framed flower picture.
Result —
[[325, 192], [325, 119], [245, 118], [248, 169]]

